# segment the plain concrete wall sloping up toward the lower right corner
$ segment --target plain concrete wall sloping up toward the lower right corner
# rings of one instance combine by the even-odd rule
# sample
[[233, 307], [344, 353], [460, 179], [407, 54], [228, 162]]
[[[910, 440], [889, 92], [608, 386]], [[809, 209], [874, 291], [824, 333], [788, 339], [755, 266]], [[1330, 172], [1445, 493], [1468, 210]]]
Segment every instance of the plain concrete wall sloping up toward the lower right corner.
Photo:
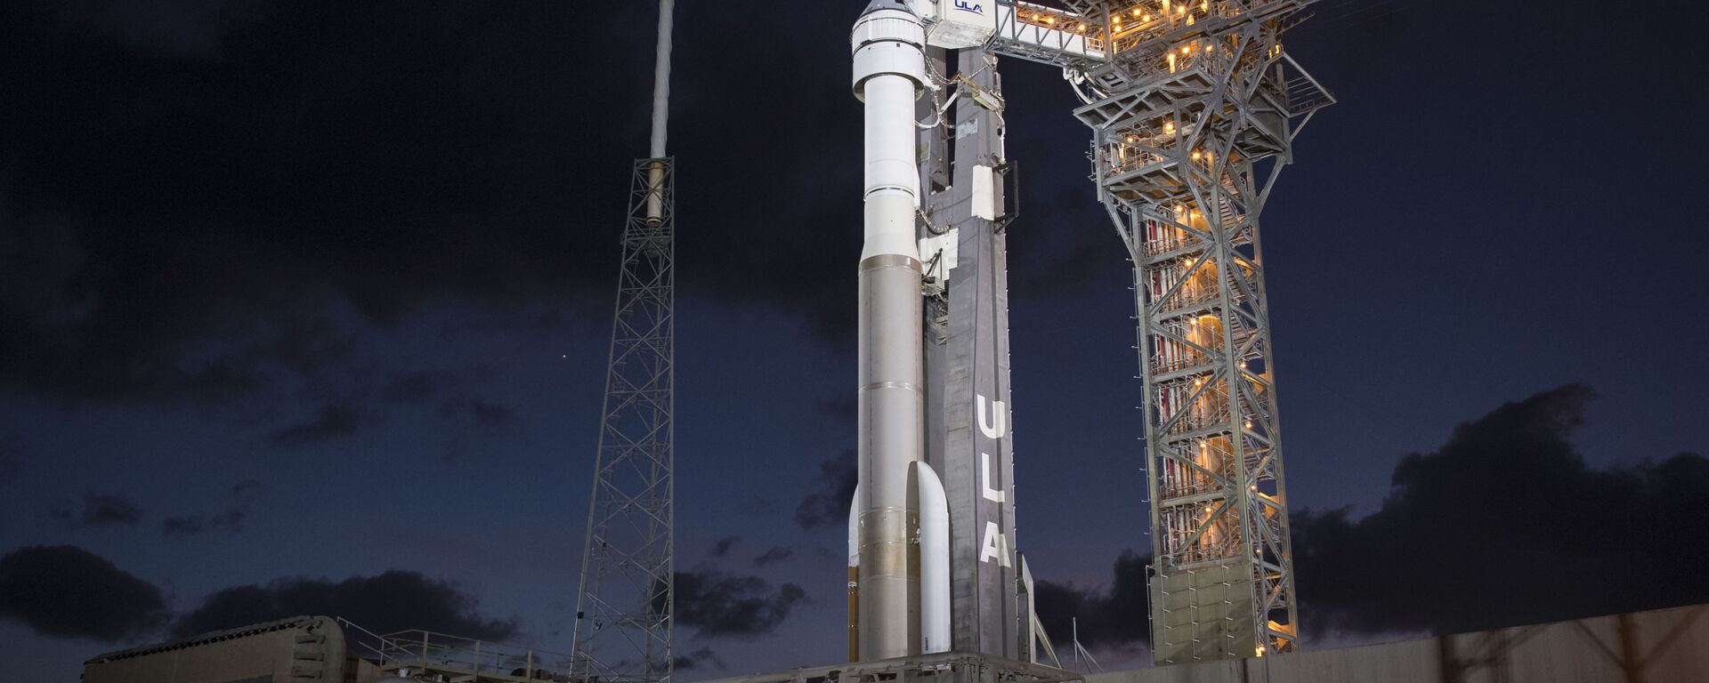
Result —
[[1090, 674], [1087, 683], [1700, 683], [1709, 604]]

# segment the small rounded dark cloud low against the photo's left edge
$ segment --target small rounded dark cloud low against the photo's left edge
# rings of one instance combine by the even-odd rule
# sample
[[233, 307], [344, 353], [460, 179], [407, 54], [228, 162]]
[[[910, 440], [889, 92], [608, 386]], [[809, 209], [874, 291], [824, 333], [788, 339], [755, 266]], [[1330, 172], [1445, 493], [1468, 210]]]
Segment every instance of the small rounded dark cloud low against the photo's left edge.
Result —
[[55, 545], [0, 557], [0, 616], [56, 639], [120, 642], [166, 623], [161, 589], [87, 550]]

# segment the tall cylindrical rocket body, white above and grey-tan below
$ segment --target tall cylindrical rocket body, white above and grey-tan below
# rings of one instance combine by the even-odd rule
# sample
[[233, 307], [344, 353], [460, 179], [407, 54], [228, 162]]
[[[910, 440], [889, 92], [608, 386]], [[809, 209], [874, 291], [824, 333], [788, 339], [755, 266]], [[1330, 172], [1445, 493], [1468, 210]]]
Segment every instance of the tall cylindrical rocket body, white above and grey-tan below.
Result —
[[[919, 504], [925, 454], [919, 171], [914, 99], [926, 87], [925, 26], [896, 0], [854, 20], [854, 97], [865, 102], [865, 246], [860, 256], [860, 659], [919, 652]], [[911, 495], [913, 493], [913, 495]]]

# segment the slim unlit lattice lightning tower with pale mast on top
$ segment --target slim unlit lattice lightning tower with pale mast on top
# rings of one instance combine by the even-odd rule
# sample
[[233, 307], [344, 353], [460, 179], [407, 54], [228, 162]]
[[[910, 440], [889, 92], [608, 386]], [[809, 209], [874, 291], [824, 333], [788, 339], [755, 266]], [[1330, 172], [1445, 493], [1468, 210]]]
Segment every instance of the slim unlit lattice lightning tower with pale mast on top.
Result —
[[576, 601], [576, 681], [670, 681], [675, 490], [675, 161], [665, 155], [672, 0], [660, 0], [651, 157], [637, 159], [617, 277]]

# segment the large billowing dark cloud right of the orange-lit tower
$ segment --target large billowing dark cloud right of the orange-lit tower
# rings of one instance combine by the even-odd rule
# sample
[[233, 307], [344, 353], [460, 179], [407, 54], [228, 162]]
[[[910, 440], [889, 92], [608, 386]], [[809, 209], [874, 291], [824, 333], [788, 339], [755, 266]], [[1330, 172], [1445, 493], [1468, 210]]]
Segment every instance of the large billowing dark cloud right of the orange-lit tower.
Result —
[[1709, 459], [1591, 468], [1591, 391], [1506, 403], [1410, 454], [1371, 516], [1294, 519], [1307, 628], [1436, 633], [1709, 601]]

